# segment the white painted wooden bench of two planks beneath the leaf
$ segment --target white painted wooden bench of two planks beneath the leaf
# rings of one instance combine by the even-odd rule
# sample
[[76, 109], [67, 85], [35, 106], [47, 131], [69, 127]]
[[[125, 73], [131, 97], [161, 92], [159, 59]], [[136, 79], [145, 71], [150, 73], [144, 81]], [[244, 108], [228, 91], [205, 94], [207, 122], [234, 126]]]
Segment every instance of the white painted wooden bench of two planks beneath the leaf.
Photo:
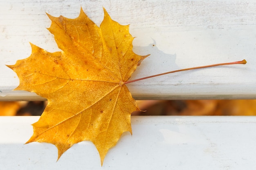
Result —
[[[255, 99], [256, 2], [254, 0], [43, 0], [0, 1], [0, 100], [44, 100], [11, 91], [17, 75], [5, 66], [31, 53], [29, 42], [58, 51], [45, 29], [45, 12], [68, 18], [80, 7], [98, 25], [105, 7], [137, 37], [134, 51], [151, 54], [131, 79], [179, 68], [247, 60], [128, 84], [135, 99]], [[38, 117], [0, 117], [0, 169], [252, 170], [256, 167], [255, 117], [132, 117], [133, 135], [124, 133], [100, 166], [96, 148], [81, 142], [56, 162], [51, 144], [23, 145]]]

